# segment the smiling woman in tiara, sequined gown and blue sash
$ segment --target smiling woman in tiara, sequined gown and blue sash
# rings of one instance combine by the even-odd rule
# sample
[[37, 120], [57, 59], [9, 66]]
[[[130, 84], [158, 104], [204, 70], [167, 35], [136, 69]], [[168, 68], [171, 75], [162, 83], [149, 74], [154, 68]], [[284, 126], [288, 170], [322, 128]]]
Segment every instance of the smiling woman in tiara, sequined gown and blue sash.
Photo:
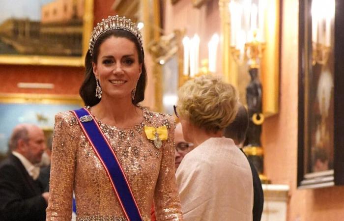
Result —
[[142, 37], [125, 17], [93, 30], [80, 95], [86, 107], [58, 113], [47, 220], [181, 221], [174, 177], [174, 120], [140, 107], [146, 84]]

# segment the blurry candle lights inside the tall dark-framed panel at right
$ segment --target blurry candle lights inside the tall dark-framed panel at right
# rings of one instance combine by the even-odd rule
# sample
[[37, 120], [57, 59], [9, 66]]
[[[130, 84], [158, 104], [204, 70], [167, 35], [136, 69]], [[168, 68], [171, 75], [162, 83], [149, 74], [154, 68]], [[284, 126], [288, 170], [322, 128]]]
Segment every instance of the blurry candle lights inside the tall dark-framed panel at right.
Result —
[[312, 63], [325, 65], [332, 45], [332, 21], [335, 15], [334, 0], [312, 1]]

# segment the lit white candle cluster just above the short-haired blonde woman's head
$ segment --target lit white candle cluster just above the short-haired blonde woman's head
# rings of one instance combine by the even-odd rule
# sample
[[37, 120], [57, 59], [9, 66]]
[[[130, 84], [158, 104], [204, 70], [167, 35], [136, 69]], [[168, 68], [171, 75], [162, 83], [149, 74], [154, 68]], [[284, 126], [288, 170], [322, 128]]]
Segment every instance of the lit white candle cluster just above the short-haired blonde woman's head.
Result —
[[208, 43], [208, 59], [201, 60], [200, 67], [200, 37], [195, 34], [194, 37], [183, 38], [184, 46], [184, 62], [183, 62], [183, 77], [184, 82], [190, 78], [200, 76], [202, 74], [215, 73], [217, 61], [217, 48], [220, 37], [217, 33], [213, 34]]

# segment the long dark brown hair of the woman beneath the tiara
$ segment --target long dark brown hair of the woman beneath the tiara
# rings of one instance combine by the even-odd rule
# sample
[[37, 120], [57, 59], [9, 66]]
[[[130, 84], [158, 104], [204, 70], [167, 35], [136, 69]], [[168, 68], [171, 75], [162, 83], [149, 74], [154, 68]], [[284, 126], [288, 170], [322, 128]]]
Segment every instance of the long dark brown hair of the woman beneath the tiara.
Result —
[[92, 61], [94, 63], [97, 63], [100, 45], [111, 36], [123, 37], [132, 41], [135, 44], [138, 55], [139, 55], [139, 63], [142, 64], [142, 73], [140, 75], [138, 84], [136, 86], [135, 99], [132, 102], [134, 105], [137, 105], [139, 102], [143, 101], [144, 99], [144, 90], [145, 90], [146, 81], [147, 81], [147, 72], [144, 65], [143, 49], [140, 46], [137, 37], [131, 32], [123, 30], [123, 29], [112, 29], [100, 35], [97, 41], [94, 43], [93, 56], [91, 56], [89, 50], [87, 51], [87, 54], [85, 57], [85, 68], [86, 68], [85, 79], [79, 90], [79, 94], [81, 98], [84, 100], [84, 103], [86, 106], [94, 106], [100, 102], [100, 99], [98, 99], [98, 97], [95, 96], [96, 79], [93, 73]]

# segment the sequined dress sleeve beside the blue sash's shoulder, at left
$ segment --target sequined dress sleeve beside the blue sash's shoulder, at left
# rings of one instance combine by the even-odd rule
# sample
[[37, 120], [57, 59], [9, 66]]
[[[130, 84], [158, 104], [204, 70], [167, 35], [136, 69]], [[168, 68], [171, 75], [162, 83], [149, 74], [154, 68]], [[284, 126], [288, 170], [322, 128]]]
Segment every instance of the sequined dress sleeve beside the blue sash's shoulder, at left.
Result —
[[[55, 116], [47, 221], [72, 218], [72, 197], [79, 130], [71, 112]], [[74, 122], [74, 123], [73, 123]]]

